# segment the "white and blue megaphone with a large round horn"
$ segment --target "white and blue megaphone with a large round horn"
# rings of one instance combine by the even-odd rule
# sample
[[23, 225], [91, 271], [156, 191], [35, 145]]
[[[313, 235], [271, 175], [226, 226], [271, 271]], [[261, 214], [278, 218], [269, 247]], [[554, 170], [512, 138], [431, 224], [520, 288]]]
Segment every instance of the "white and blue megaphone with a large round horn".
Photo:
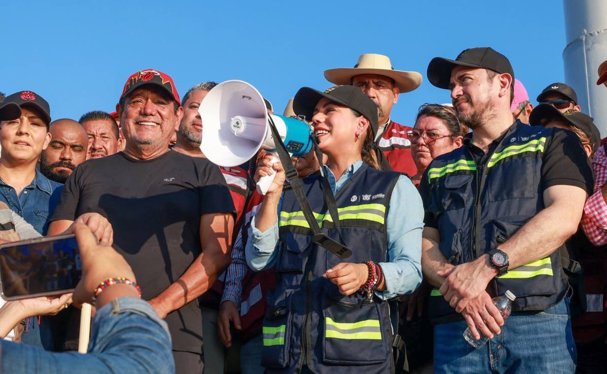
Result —
[[[275, 139], [270, 131], [274, 121], [287, 151], [303, 156], [312, 149], [310, 125], [302, 120], [268, 114], [262, 95], [244, 81], [225, 81], [206, 94], [198, 107], [202, 118], [200, 150], [219, 166], [238, 166], [254, 157], [260, 148], [273, 154], [278, 161]], [[257, 191], [265, 195], [274, 174], [260, 178]]]

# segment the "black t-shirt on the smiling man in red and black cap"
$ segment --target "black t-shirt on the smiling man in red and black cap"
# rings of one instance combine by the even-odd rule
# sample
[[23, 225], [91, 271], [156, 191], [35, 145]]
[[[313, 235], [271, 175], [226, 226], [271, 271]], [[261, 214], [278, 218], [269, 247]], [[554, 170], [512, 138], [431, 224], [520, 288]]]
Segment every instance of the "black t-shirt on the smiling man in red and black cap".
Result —
[[[219, 168], [205, 158], [167, 152], [135, 160], [123, 152], [79, 165], [51, 220], [96, 212], [114, 227], [114, 248], [129, 262], [146, 300], [155, 298], [200, 255], [200, 216], [234, 213]], [[202, 349], [198, 302], [166, 316], [173, 349]]]

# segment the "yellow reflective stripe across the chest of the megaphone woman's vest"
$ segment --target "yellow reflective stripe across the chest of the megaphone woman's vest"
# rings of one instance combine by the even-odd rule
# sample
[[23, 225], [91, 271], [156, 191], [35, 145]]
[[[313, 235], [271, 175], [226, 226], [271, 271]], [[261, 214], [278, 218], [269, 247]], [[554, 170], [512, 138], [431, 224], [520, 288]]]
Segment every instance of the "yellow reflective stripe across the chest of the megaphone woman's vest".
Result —
[[[333, 222], [330, 214], [313, 213], [317, 222]], [[382, 204], [362, 204], [354, 206], [346, 206], [345, 208], [337, 208], [339, 220], [359, 219], [372, 222], [378, 222], [384, 225], [385, 222], [385, 206]], [[279, 226], [302, 226], [310, 228], [308, 221], [305, 220], [304, 212], [280, 212]]]

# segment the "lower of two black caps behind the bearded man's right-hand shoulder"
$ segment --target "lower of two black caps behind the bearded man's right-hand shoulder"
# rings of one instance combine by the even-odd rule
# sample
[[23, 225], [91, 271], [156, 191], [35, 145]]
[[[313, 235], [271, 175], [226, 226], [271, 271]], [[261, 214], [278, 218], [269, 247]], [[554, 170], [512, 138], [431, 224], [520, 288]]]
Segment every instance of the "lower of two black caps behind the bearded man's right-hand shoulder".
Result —
[[531, 126], [546, 126], [553, 118], [562, 118], [566, 123], [585, 132], [592, 143], [593, 153], [599, 148], [601, 134], [597, 126], [594, 125], [594, 118], [573, 109], [562, 113], [551, 104], [540, 104], [531, 111], [529, 124]]

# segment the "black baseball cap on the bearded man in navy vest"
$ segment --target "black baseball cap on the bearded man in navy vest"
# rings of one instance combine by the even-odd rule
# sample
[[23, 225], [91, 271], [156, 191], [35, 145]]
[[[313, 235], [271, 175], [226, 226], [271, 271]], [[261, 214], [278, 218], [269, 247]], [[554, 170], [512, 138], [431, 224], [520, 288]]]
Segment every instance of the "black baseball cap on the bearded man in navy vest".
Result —
[[435, 57], [428, 65], [428, 80], [434, 86], [449, 89], [451, 72], [456, 66], [476, 67], [489, 69], [498, 73], [508, 73], [514, 84], [514, 70], [506, 56], [496, 52], [490, 47], [464, 49], [455, 60]]

